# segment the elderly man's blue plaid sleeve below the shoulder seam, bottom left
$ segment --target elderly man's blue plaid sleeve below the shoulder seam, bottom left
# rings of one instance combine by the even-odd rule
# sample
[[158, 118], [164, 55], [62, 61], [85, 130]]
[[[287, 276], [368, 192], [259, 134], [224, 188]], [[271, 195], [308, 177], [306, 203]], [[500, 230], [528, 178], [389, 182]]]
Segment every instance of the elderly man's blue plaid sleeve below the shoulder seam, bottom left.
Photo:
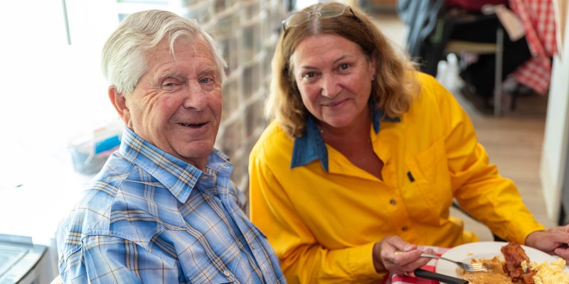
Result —
[[114, 236], [87, 236], [60, 262], [63, 283], [179, 283], [174, 261]]

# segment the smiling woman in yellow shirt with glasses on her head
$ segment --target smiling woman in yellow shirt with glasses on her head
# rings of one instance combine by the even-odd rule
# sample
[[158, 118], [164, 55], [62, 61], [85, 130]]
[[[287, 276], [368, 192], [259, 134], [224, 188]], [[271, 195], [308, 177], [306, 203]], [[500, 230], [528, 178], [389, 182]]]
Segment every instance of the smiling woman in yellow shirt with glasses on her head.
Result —
[[543, 231], [452, 94], [355, 7], [283, 21], [266, 110], [250, 213], [290, 283], [377, 283], [427, 263], [417, 245], [477, 241], [454, 198], [501, 238], [568, 256], [566, 228]]

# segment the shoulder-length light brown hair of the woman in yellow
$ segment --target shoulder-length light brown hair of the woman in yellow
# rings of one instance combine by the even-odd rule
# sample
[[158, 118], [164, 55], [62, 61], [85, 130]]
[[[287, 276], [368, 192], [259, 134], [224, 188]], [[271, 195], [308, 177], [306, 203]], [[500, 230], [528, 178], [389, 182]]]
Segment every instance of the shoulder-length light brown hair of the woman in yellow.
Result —
[[304, 133], [309, 111], [302, 103], [290, 58], [307, 37], [339, 35], [359, 45], [368, 60], [375, 59], [376, 80], [372, 81], [369, 103], [375, 109], [383, 110], [386, 116], [403, 114], [418, 93], [419, 85], [414, 75], [416, 63], [409, 60], [403, 50], [395, 48], [366, 13], [351, 7], [346, 7], [340, 16], [326, 17], [312, 12], [329, 5], [344, 4], [326, 2], [308, 6], [302, 10], [311, 13], [307, 21], [289, 28], [283, 26], [284, 31], [272, 58], [272, 80], [265, 116], [275, 119], [292, 137]]

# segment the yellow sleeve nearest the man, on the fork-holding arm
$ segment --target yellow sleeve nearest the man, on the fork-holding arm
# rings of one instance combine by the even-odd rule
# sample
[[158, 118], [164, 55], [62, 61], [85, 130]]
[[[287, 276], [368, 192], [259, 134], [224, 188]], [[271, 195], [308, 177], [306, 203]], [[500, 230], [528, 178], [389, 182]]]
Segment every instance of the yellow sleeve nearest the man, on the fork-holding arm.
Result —
[[266, 235], [280, 258], [288, 283], [376, 282], [386, 273], [373, 267], [373, 243], [326, 249], [295, 213], [267, 165], [254, 153], [250, 157], [251, 220]]

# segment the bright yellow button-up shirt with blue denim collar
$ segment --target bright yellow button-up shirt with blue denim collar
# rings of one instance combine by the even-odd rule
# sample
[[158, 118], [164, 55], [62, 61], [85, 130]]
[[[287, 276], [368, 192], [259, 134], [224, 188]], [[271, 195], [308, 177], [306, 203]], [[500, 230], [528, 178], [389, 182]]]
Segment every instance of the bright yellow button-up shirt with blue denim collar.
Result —
[[252, 149], [251, 219], [290, 283], [376, 282], [385, 273], [374, 270], [372, 247], [385, 236], [444, 247], [477, 241], [449, 216], [453, 198], [509, 241], [524, 244], [544, 229], [489, 164], [452, 94], [429, 75], [418, 78], [407, 113], [380, 121], [376, 111], [370, 133], [383, 180], [324, 146], [312, 119], [294, 140], [273, 122]]

